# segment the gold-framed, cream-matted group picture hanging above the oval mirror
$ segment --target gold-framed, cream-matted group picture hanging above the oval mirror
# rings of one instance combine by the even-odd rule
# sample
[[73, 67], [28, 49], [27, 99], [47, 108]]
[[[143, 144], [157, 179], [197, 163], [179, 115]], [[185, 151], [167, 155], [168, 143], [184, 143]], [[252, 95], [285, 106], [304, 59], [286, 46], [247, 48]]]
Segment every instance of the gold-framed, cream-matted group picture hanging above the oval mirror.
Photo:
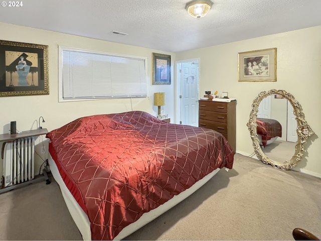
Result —
[[239, 82], [276, 81], [276, 48], [239, 53]]

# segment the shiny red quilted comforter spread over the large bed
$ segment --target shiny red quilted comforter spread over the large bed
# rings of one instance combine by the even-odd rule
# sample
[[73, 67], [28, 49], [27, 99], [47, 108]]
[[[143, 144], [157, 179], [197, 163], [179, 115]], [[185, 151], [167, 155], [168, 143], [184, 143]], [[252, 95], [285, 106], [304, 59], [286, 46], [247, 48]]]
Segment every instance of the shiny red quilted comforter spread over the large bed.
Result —
[[220, 133], [142, 111], [78, 118], [47, 138], [95, 240], [113, 239], [216, 168], [231, 169], [234, 157]]

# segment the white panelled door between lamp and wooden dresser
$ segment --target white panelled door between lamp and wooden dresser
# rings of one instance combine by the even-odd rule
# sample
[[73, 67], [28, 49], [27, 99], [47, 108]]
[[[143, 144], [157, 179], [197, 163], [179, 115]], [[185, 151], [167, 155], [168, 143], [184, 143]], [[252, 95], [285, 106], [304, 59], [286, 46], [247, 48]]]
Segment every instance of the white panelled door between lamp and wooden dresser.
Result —
[[178, 124], [199, 126], [199, 60], [177, 62]]

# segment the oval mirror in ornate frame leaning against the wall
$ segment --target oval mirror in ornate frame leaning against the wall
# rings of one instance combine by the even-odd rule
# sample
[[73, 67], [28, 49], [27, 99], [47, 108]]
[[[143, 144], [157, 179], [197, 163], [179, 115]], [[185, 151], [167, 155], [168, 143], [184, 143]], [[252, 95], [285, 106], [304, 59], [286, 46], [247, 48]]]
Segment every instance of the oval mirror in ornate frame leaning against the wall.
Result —
[[[295, 167], [302, 159], [308, 137], [314, 134], [304, 119], [299, 102], [285, 90], [271, 89], [259, 93], [251, 108], [247, 127], [257, 157], [275, 168], [288, 170]], [[285, 157], [272, 154], [281, 146], [292, 146], [293, 151], [280, 152], [288, 153]]]

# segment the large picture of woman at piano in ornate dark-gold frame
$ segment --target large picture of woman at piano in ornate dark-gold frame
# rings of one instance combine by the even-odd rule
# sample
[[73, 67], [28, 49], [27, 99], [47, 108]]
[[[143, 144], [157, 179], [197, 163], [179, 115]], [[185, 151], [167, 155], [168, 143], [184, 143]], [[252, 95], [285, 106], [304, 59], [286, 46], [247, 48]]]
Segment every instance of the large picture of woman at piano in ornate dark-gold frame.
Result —
[[0, 96], [49, 94], [48, 46], [0, 40]]

